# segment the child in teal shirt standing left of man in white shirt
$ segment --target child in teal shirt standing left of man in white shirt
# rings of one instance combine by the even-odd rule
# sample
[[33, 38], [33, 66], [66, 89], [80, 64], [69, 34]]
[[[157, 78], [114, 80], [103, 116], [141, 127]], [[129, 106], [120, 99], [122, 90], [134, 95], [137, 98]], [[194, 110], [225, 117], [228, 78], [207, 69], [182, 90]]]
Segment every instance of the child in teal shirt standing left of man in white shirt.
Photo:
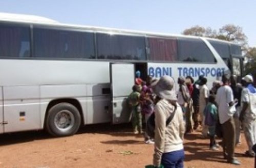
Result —
[[215, 96], [209, 96], [209, 102], [204, 108], [205, 125], [208, 126], [209, 137], [210, 137], [210, 149], [217, 151], [218, 145], [215, 140], [215, 129], [218, 120], [218, 109], [215, 105]]

